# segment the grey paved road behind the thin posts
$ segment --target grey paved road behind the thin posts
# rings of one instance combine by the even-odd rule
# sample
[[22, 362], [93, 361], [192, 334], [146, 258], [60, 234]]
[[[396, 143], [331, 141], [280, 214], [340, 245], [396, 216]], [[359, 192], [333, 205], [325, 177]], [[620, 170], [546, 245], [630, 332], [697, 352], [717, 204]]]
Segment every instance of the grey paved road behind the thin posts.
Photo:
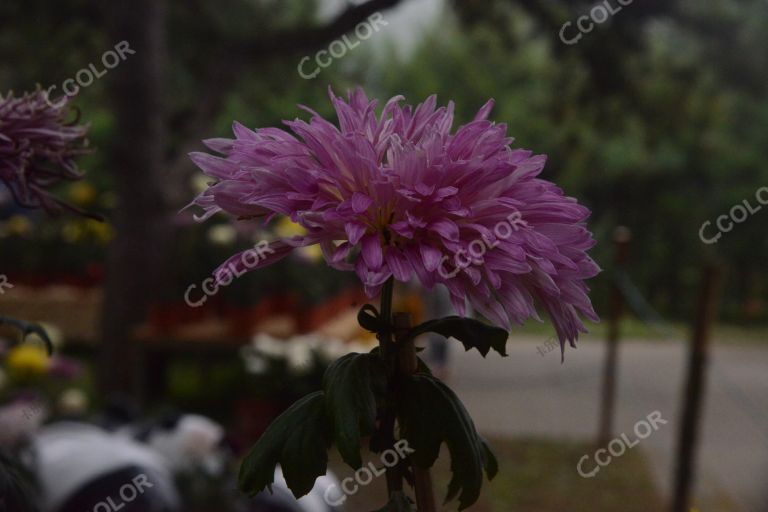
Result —
[[[487, 361], [453, 345], [451, 384], [482, 432], [594, 438], [603, 344], [582, 342], [566, 352], [561, 365], [559, 349], [544, 356], [537, 352], [544, 342], [543, 337], [513, 339], [508, 358], [491, 355]], [[669, 419], [640, 445], [667, 496], [684, 374], [685, 347], [679, 341], [629, 341], [621, 347], [616, 430], [631, 434], [657, 410]], [[711, 503], [727, 494], [744, 512], [767, 512], [768, 348], [716, 347], [707, 386], [697, 495]]]

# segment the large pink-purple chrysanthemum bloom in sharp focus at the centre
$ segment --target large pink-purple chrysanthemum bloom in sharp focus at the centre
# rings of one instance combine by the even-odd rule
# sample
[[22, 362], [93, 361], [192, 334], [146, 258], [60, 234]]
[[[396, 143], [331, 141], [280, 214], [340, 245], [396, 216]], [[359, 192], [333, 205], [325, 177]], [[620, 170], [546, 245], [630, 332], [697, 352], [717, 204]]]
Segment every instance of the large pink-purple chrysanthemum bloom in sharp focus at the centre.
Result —
[[510, 147], [506, 125], [487, 120], [492, 101], [451, 133], [454, 105], [436, 108], [434, 96], [415, 109], [392, 98], [379, 116], [361, 89], [347, 102], [330, 96], [338, 127], [302, 107], [312, 118], [286, 121], [293, 133], [235, 123], [235, 139], [205, 141], [224, 158], [190, 155], [216, 180], [193, 202], [198, 220], [284, 215], [307, 230], [271, 242], [257, 264], [236, 255], [221, 269], [320, 244], [370, 297], [390, 276], [415, 275], [428, 289], [446, 286], [458, 314], [468, 300], [504, 327], [538, 319], [538, 303], [561, 343], [586, 332], [580, 315], [598, 321], [584, 284], [599, 272], [586, 253], [589, 210], [537, 178], [546, 158]]

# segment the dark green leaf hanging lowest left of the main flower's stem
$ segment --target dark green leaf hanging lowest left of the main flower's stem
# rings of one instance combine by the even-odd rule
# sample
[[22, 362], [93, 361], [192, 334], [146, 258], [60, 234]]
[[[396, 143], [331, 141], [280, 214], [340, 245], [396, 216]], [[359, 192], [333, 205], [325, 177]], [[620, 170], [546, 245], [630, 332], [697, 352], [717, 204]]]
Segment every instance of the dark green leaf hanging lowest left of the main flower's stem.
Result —
[[330, 446], [325, 396], [318, 391], [293, 404], [259, 438], [240, 466], [240, 489], [251, 496], [271, 489], [279, 463], [288, 488], [300, 498], [325, 475]]

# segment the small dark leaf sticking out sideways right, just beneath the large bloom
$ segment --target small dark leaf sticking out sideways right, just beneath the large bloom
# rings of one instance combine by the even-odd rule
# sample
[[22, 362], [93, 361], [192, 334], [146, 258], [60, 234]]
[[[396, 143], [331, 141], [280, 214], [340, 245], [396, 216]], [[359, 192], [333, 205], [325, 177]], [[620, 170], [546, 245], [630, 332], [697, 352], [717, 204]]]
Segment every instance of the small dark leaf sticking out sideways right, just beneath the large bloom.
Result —
[[476, 348], [483, 357], [487, 356], [491, 349], [504, 357], [507, 356], [509, 333], [501, 327], [488, 325], [473, 318], [449, 316], [430, 320], [414, 327], [410, 336], [415, 338], [428, 332], [435, 332], [446, 338], [456, 338], [467, 351]]

